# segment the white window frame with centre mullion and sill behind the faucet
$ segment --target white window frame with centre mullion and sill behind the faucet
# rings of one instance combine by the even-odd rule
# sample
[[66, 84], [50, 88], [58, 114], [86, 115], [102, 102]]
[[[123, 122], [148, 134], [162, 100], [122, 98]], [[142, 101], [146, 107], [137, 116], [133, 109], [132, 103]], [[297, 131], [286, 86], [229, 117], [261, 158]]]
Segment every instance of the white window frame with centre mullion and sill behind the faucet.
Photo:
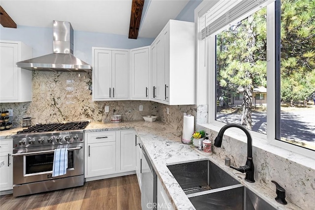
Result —
[[[207, 2], [203, 1], [198, 8], [202, 8], [195, 15], [195, 20], [198, 20], [198, 16], [203, 15]], [[203, 13], [202, 13], [203, 12]], [[246, 16], [240, 17], [244, 19]], [[198, 22], [197, 22], [198, 23]], [[198, 25], [198, 24], [197, 24]], [[198, 27], [197, 31], [198, 33]], [[218, 33], [218, 32], [217, 32]], [[198, 42], [197, 40], [197, 46]], [[216, 99], [216, 52], [215, 50], [216, 37], [215, 35], [210, 35], [206, 38], [207, 49], [205, 51], [207, 55], [207, 69], [208, 69], [208, 123], [211, 127], [222, 127], [226, 123], [215, 120], [216, 119], [216, 110], [217, 110], [217, 99]], [[267, 135], [251, 131], [253, 141], [259, 140], [263, 141], [266, 144], [274, 145], [281, 147], [285, 150], [292, 151], [293, 153], [299, 153], [308, 157], [315, 159], [315, 151], [302, 148], [296, 145], [292, 145], [280, 140], [275, 139], [276, 136], [276, 79], [275, 79], [275, 63], [276, 63], [276, 51], [275, 51], [275, 2], [268, 2], [267, 5]], [[205, 56], [204, 53], [197, 50], [197, 58], [199, 56]], [[198, 68], [198, 65], [197, 65]], [[198, 81], [197, 81], [198, 82]], [[211, 85], [213, 84], [213, 85]], [[197, 92], [198, 94], [198, 92]], [[198, 97], [198, 96], [197, 96]], [[198, 101], [198, 100], [197, 100]], [[242, 133], [239, 129], [231, 129], [231, 131], [236, 133]]]

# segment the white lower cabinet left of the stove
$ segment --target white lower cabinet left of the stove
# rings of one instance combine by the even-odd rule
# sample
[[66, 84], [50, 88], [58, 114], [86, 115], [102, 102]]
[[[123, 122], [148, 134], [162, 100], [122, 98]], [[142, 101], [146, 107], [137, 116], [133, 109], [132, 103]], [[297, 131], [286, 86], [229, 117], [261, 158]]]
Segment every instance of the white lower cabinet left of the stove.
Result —
[[0, 191], [13, 189], [12, 141], [0, 141]]

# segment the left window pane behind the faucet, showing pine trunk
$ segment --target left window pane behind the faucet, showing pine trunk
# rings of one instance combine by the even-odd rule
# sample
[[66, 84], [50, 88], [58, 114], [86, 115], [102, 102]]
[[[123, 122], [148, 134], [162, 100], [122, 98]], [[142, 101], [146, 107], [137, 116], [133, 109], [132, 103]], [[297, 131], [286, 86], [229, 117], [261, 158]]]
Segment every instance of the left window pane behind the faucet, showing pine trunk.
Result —
[[233, 103], [223, 103], [217, 109], [216, 119], [239, 123], [263, 134], [266, 105], [257, 106], [256, 102], [264, 95], [254, 90], [267, 87], [266, 31], [267, 10], [263, 7], [216, 34], [217, 95], [225, 98], [230, 92], [236, 93]]

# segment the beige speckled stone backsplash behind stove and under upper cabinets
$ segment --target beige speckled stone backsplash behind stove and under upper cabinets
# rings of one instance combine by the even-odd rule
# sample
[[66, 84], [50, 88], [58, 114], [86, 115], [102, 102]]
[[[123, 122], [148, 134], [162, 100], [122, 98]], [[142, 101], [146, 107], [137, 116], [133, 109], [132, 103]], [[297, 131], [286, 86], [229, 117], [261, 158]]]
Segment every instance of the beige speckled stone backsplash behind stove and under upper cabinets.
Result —
[[[112, 115], [123, 120], [142, 120], [144, 115], [158, 115], [158, 104], [151, 101], [93, 101], [92, 75], [73, 72], [33, 72], [32, 102], [1, 103], [0, 108], [13, 109], [13, 127], [22, 119], [32, 124], [71, 120], [110, 122]], [[143, 111], [139, 111], [143, 105]], [[109, 112], [105, 113], [105, 106]]]

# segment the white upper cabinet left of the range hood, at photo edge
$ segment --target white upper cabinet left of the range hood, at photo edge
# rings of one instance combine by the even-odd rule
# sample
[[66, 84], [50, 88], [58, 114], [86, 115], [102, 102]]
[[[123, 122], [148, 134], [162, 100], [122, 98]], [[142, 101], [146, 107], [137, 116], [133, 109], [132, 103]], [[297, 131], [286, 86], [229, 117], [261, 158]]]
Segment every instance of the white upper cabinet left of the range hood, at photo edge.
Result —
[[0, 103], [32, 101], [32, 71], [16, 62], [32, 58], [32, 48], [19, 41], [0, 41]]

